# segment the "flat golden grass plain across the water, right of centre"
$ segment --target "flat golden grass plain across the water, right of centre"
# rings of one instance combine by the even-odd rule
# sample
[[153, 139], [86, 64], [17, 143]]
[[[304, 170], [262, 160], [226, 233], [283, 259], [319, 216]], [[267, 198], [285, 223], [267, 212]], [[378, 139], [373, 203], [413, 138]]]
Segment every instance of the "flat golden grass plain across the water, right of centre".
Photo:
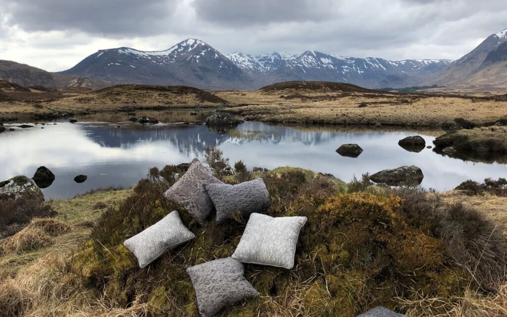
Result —
[[[307, 98], [290, 95], [304, 95]], [[325, 123], [340, 125], [440, 126], [455, 118], [476, 123], [496, 121], [507, 115], [507, 101], [457, 96], [287, 91], [236, 92], [216, 95], [239, 107], [229, 111], [247, 119], [268, 122]], [[280, 96], [285, 98], [280, 98]], [[359, 103], [368, 107], [358, 108]]]

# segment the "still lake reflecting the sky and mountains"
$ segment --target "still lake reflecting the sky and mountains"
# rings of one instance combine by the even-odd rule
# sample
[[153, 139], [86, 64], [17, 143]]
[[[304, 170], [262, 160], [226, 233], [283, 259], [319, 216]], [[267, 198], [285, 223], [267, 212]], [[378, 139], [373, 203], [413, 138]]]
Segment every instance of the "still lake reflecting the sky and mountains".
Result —
[[[426, 148], [414, 153], [397, 144], [401, 138], [417, 133], [427, 145], [432, 145], [431, 132], [257, 122], [216, 132], [205, 125], [181, 123], [204, 121], [204, 112], [197, 116], [181, 110], [136, 114], [143, 115], [157, 117], [164, 123], [142, 126], [127, 121], [124, 113], [100, 114], [77, 118], [79, 122], [75, 124], [56, 121], [56, 125], [51, 122], [4, 132], [0, 134], [0, 180], [20, 174], [32, 177], [44, 165], [56, 175], [54, 183], [43, 189], [46, 199], [68, 198], [98, 187], [132, 186], [153, 166], [162, 168], [195, 157], [203, 160], [208, 146], [220, 148], [231, 163], [243, 160], [248, 168], [299, 166], [332, 173], [344, 181], [366, 172], [417, 165], [424, 173], [421, 185], [439, 191], [453, 189], [467, 179], [507, 177], [505, 164], [463, 161]], [[342, 157], [335, 150], [345, 143], [357, 143], [364, 152], [358, 158]], [[88, 180], [77, 184], [74, 177], [78, 174], [88, 175]]]

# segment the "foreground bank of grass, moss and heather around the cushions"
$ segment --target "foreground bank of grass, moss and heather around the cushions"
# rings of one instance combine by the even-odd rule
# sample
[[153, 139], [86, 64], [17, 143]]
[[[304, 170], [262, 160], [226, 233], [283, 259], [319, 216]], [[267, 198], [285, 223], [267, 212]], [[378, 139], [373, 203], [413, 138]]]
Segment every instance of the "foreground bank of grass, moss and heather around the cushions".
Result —
[[[251, 171], [237, 163], [230, 174], [220, 155], [208, 163], [229, 184], [262, 177], [269, 215], [308, 218], [295, 268], [245, 265], [261, 296], [219, 315], [355, 316], [384, 305], [410, 316], [507, 316], [506, 198], [391, 190], [366, 179], [344, 184], [291, 167]], [[182, 172], [153, 168], [133, 191], [48, 202], [57, 219], [34, 220], [0, 241], [6, 250], [0, 255], [0, 315], [196, 316], [185, 268], [232, 254], [245, 224], [218, 226], [210, 218], [200, 226], [164, 199]], [[122, 242], [172, 210], [195, 240], [139, 269]], [[35, 229], [45, 232], [41, 243], [26, 234]], [[15, 242], [31, 247], [7, 248]]]

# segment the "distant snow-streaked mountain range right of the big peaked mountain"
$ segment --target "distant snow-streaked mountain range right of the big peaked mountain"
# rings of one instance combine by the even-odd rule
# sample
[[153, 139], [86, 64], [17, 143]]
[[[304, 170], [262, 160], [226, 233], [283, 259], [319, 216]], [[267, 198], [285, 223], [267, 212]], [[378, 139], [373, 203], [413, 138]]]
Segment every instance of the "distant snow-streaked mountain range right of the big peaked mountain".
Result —
[[446, 59], [390, 61], [373, 57], [356, 58], [317, 51], [263, 55], [235, 52], [227, 57], [261, 82], [325, 80], [373, 88], [415, 85], [452, 63]]

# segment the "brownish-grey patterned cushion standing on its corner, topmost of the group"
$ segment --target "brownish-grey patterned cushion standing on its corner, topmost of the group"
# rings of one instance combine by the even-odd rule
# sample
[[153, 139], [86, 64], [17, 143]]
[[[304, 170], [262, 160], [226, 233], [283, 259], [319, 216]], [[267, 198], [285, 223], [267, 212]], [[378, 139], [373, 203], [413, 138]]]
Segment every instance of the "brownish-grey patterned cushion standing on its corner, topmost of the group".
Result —
[[187, 172], [171, 186], [164, 197], [183, 206], [200, 224], [213, 210], [204, 185], [223, 184], [198, 159], [194, 159]]

